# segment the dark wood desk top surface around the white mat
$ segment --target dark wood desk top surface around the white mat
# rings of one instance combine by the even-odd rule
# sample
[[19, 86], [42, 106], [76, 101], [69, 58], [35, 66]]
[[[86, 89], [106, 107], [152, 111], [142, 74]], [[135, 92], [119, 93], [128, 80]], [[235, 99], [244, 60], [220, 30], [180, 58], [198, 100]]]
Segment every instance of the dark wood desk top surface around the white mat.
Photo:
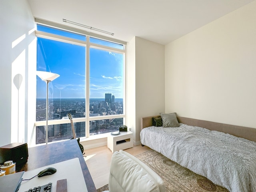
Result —
[[28, 148], [28, 162], [16, 170], [33, 170], [73, 158], [79, 158], [88, 192], [96, 192], [92, 176], [75, 139]]

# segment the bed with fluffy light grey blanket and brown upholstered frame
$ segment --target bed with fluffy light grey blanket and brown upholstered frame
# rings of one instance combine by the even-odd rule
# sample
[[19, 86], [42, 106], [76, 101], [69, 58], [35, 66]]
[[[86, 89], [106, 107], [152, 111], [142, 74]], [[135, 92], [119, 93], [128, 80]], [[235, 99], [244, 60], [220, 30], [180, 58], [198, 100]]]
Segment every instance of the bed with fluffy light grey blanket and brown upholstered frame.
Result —
[[255, 128], [175, 116], [174, 127], [141, 118], [141, 144], [230, 192], [256, 192]]

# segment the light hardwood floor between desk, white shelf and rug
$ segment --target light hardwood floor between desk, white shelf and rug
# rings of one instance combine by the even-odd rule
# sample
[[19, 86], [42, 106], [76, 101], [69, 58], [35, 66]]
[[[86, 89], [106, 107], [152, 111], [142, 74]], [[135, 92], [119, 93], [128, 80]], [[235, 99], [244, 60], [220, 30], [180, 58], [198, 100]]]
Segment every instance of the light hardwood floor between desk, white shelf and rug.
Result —
[[[150, 150], [150, 148], [147, 146], [142, 147], [141, 145], [138, 145], [124, 151], [135, 156], [147, 150]], [[87, 149], [84, 152], [86, 153], [86, 157], [84, 157], [84, 159], [96, 189], [108, 184], [109, 166], [112, 157], [112, 151], [108, 148], [108, 146], [100, 146]]]

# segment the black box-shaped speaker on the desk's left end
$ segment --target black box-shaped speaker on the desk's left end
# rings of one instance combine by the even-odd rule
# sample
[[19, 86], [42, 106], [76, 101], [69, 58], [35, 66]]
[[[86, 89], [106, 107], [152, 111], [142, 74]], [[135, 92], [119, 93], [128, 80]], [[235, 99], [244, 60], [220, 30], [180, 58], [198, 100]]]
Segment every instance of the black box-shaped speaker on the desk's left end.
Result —
[[8, 160], [16, 162], [16, 166], [28, 162], [28, 144], [11, 143], [0, 147], [0, 164]]

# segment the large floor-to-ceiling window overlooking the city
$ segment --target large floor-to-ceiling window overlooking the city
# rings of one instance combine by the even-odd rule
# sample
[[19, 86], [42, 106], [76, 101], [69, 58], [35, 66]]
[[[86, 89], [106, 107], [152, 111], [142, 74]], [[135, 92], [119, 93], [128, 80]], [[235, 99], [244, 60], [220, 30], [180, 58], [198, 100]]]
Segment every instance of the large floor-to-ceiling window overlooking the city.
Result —
[[[72, 28], [70, 28], [72, 30]], [[37, 70], [48, 86], [48, 142], [89, 137], [125, 124], [125, 44], [37, 25]], [[36, 144], [45, 142], [46, 82], [36, 81]]]

